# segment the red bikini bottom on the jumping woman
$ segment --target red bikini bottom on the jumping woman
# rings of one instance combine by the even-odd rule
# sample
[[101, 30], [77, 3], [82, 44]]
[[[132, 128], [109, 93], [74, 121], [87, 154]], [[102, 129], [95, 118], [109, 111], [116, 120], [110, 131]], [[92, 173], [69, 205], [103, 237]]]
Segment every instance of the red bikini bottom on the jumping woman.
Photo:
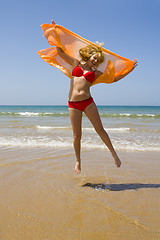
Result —
[[86, 100], [82, 100], [82, 101], [74, 101], [74, 102], [68, 101], [68, 107], [75, 108], [80, 111], [84, 111], [86, 109], [86, 107], [88, 107], [92, 102], [93, 102], [92, 97], [90, 97]]

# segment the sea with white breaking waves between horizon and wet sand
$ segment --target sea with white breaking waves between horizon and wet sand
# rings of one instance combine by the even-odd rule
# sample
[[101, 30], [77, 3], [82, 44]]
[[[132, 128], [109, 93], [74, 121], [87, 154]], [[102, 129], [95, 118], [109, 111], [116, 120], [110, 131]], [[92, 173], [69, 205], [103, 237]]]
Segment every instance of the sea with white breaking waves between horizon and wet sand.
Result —
[[[98, 106], [116, 150], [160, 152], [160, 106]], [[0, 149], [73, 147], [67, 106], [0, 106]], [[83, 115], [82, 149], [106, 149]]]

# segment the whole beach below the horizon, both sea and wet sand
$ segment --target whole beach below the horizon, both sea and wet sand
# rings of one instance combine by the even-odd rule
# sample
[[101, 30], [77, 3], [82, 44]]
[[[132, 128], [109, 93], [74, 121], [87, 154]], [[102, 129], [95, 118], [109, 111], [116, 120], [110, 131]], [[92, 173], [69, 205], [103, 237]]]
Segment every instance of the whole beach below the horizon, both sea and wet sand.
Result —
[[99, 107], [122, 161], [84, 116], [74, 173], [66, 106], [0, 107], [0, 239], [160, 239], [160, 107]]

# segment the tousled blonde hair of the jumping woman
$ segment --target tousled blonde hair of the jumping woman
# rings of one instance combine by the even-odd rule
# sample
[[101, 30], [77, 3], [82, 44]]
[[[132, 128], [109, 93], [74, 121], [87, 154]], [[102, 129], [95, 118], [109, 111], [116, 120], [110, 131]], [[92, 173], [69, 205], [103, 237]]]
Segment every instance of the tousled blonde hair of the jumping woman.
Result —
[[81, 57], [81, 60], [85, 62], [96, 53], [98, 54], [99, 63], [102, 63], [104, 61], [104, 56], [102, 53], [102, 44], [100, 46], [89, 44], [86, 47], [81, 48], [79, 50], [79, 55]]

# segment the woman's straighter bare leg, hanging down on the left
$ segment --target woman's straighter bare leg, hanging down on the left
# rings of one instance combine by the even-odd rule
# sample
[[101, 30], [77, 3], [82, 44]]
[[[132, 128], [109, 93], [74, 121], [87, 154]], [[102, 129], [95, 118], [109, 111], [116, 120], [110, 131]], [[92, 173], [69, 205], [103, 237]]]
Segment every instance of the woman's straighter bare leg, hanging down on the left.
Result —
[[75, 165], [75, 172], [80, 173], [81, 172], [81, 157], [80, 157], [80, 151], [81, 151], [81, 135], [82, 135], [82, 111], [69, 108], [69, 116], [72, 124], [73, 129], [73, 145], [74, 150], [76, 154], [76, 165]]

